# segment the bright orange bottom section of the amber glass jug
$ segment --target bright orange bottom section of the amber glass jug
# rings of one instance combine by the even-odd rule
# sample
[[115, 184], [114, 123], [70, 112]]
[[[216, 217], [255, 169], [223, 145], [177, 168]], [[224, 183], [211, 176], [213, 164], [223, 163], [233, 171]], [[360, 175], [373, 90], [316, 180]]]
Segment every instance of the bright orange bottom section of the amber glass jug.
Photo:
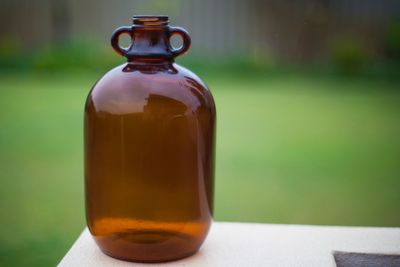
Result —
[[156, 263], [195, 254], [209, 224], [154, 223], [127, 219], [103, 219], [91, 233], [102, 252], [116, 259]]

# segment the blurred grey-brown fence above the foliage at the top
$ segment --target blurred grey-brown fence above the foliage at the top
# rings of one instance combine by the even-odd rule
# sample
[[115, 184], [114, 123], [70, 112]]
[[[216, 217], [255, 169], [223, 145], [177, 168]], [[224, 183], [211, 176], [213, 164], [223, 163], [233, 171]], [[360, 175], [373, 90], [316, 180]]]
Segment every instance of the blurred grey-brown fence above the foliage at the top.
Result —
[[0, 1], [0, 42], [29, 49], [73, 38], [108, 44], [132, 15], [162, 13], [190, 31], [194, 54], [273, 54], [283, 61], [323, 57], [346, 36], [383, 53], [387, 28], [400, 15], [398, 0]]

